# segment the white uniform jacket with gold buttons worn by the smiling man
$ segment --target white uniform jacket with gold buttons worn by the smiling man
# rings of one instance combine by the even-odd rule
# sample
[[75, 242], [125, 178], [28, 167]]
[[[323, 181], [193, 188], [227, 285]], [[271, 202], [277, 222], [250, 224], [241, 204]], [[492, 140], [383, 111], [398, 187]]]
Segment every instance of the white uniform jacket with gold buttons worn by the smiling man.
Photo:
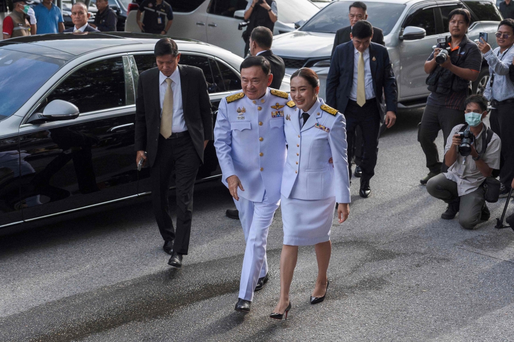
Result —
[[287, 93], [268, 88], [263, 98], [248, 99], [237, 92], [219, 104], [214, 146], [222, 169], [222, 182], [236, 175], [245, 191], [237, 195], [262, 202], [280, 200], [286, 159], [284, 109]]

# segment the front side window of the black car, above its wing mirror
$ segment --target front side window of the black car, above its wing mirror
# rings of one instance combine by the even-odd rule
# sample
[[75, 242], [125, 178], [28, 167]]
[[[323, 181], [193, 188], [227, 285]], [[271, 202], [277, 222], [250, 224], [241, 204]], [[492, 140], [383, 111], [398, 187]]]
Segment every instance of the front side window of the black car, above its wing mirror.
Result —
[[125, 76], [121, 57], [88, 64], [64, 80], [47, 98], [71, 102], [81, 113], [124, 106]]

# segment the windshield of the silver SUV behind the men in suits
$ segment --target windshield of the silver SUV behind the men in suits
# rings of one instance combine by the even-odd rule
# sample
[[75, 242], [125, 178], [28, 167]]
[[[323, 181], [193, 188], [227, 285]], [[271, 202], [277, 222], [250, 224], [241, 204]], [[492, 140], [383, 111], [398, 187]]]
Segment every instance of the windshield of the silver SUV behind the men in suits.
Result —
[[[352, 3], [351, 1], [338, 1], [328, 5], [302, 26], [300, 31], [336, 33], [340, 28], [350, 26], [348, 7]], [[374, 27], [382, 29], [384, 35], [391, 32], [405, 9], [405, 5], [402, 4], [369, 2], [366, 5], [368, 5], [368, 21]]]

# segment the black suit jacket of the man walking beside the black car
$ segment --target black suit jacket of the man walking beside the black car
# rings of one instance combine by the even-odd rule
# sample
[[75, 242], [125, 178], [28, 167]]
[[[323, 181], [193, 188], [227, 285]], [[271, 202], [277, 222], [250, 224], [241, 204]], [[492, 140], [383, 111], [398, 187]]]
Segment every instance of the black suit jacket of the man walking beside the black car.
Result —
[[[207, 82], [200, 68], [179, 65], [182, 108], [189, 135], [200, 160], [204, 161], [204, 140], [213, 140], [211, 101]], [[159, 69], [141, 72], [136, 98], [136, 151], [148, 153], [150, 166], [157, 156], [160, 135]]]

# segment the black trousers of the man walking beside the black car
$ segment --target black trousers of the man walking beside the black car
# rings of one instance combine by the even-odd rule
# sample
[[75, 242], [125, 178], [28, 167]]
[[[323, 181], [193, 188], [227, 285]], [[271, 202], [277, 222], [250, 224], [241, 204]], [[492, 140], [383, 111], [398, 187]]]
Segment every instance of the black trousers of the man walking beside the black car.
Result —
[[[173, 240], [173, 252], [188, 254], [193, 218], [193, 187], [200, 158], [188, 135], [164, 139], [159, 135], [157, 157], [151, 169], [152, 203], [159, 231], [164, 240]], [[173, 229], [168, 191], [175, 170], [177, 229]]]

